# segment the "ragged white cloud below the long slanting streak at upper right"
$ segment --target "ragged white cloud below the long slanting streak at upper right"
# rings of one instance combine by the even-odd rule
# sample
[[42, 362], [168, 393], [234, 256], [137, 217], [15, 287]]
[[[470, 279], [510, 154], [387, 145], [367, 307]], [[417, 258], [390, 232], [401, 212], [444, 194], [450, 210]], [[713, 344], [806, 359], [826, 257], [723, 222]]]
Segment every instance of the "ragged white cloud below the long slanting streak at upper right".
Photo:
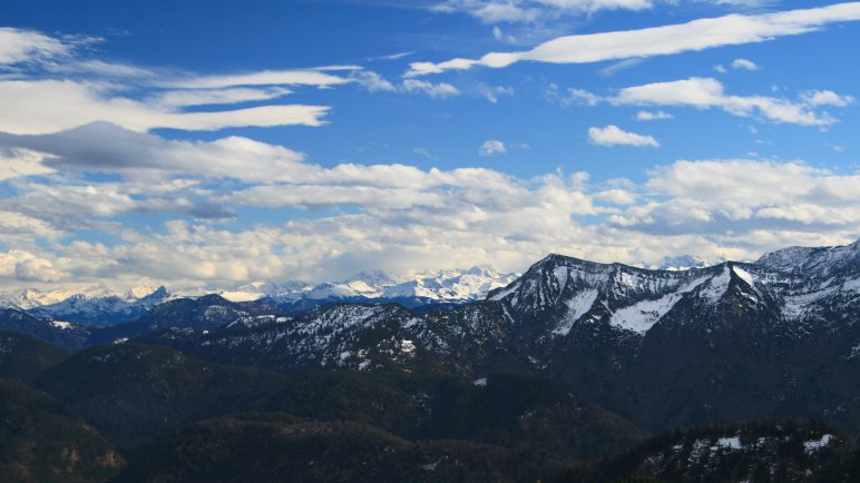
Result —
[[[832, 96], [824, 97], [831, 101], [838, 101]], [[844, 100], [838, 96], [837, 98]], [[817, 114], [811, 110], [815, 107], [815, 103], [811, 102], [814, 99], [815, 95], [800, 102], [766, 96], [731, 96], [725, 93], [722, 82], [716, 79], [691, 77], [684, 80], [624, 88], [610, 99], [610, 102], [632, 106], [720, 108], [735, 116], [750, 116], [758, 112], [774, 122], [801, 126], [828, 126], [835, 122], [835, 119], [827, 114]], [[822, 98], [819, 97], [819, 100]]]

